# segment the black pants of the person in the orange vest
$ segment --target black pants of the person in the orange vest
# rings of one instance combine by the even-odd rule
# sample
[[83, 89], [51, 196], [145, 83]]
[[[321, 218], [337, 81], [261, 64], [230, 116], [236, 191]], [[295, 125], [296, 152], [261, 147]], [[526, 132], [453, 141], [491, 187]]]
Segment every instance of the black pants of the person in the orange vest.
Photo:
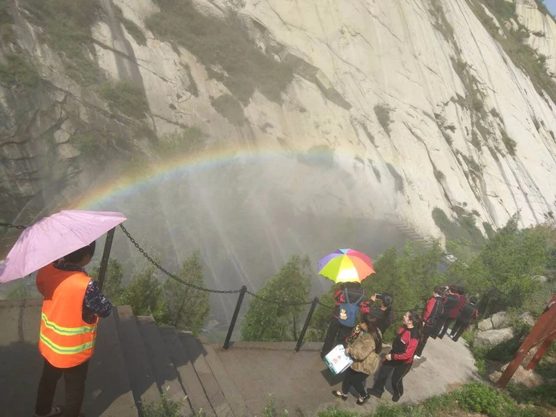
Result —
[[35, 414], [46, 416], [50, 413], [54, 393], [56, 393], [56, 384], [58, 384], [58, 379], [63, 375], [65, 381], [65, 405], [62, 415], [64, 417], [79, 416], [83, 395], [85, 395], [85, 379], [87, 379], [88, 367], [89, 361], [73, 368], [56, 368], [44, 359]]

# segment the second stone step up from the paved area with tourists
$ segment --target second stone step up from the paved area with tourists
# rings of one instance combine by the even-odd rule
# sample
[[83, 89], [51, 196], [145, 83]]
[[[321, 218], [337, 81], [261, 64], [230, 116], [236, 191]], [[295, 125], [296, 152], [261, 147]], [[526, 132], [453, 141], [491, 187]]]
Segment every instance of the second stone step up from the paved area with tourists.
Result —
[[197, 338], [195, 338], [195, 336], [193, 336], [190, 332], [179, 332], [179, 338], [183, 347], [186, 349], [188, 357], [193, 363], [195, 373], [197, 373], [197, 377], [199, 377], [199, 381], [201, 381], [206, 398], [208, 398], [216, 416], [234, 416], [234, 412], [231, 411], [229, 404], [226, 402], [226, 398], [224, 398], [224, 393], [222, 393], [222, 389], [220, 389], [218, 381], [213, 375], [211, 368], [209, 368], [206, 363], [204, 358], [206, 351], [204, 350], [203, 345], [198, 343]]

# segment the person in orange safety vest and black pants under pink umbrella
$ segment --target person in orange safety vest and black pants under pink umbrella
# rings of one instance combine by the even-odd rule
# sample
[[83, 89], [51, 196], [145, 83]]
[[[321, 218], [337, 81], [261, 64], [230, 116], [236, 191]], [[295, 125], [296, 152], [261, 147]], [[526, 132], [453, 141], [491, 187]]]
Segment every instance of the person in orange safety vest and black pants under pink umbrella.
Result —
[[[78, 417], [85, 394], [89, 360], [95, 348], [99, 317], [112, 304], [97, 281], [83, 270], [95, 254], [95, 242], [41, 268], [37, 288], [44, 297], [39, 351], [44, 357], [35, 417]], [[65, 404], [53, 407], [56, 384], [65, 381]]]

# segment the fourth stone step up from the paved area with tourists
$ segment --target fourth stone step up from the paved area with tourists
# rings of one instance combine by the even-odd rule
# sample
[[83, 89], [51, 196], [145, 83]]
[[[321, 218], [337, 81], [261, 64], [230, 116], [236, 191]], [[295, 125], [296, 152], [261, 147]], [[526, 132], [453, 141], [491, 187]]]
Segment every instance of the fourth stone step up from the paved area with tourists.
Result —
[[193, 410], [187, 401], [186, 391], [179, 382], [178, 373], [166, 351], [166, 344], [154, 318], [152, 316], [137, 316], [137, 324], [143, 343], [147, 348], [147, 356], [158, 390], [164, 393], [168, 400], [180, 404], [180, 416], [190, 416], [193, 414]]

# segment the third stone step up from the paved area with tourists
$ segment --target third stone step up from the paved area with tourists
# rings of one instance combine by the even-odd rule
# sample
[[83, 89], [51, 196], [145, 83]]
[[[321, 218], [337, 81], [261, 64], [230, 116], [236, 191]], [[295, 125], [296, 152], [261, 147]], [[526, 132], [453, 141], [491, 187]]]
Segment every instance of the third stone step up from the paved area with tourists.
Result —
[[202, 383], [197, 377], [195, 368], [193, 368], [193, 363], [179, 340], [176, 328], [161, 326], [159, 329], [166, 344], [166, 352], [170, 355], [174, 368], [176, 368], [179, 381], [186, 392], [192, 409], [195, 412], [202, 409], [207, 417], [215, 416], [211, 404], [206, 398]]

